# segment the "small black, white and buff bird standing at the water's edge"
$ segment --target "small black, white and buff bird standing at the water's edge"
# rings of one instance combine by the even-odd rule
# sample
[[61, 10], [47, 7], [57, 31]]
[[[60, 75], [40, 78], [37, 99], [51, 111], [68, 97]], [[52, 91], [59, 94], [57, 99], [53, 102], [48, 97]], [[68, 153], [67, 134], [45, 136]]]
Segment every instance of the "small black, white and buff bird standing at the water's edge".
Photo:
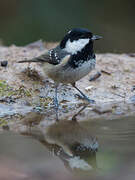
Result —
[[66, 33], [59, 45], [48, 50], [44, 54], [29, 60], [21, 60], [18, 63], [40, 62], [45, 74], [55, 82], [54, 104], [58, 110], [58, 85], [71, 84], [89, 103], [95, 101], [89, 99], [77, 86], [80, 80], [91, 72], [96, 65], [96, 56], [93, 49], [95, 40], [101, 36], [85, 28], [73, 28]]

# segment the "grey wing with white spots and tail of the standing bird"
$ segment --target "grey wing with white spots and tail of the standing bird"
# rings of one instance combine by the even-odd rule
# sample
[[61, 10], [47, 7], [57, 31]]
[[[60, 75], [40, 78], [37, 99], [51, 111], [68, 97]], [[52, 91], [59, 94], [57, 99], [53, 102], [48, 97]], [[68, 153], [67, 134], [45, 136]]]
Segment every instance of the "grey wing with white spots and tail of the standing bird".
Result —
[[18, 63], [24, 63], [24, 62], [42, 62], [42, 63], [44, 63], [44, 62], [48, 62], [50, 64], [57, 65], [68, 54], [69, 53], [62, 50], [60, 48], [60, 46], [57, 46], [56, 48], [50, 49], [49, 51], [42, 54], [41, 56], [35, 57], [33, 59], [29, 59], [29, 60], [22, 60], [22, 61], [19, 61]]

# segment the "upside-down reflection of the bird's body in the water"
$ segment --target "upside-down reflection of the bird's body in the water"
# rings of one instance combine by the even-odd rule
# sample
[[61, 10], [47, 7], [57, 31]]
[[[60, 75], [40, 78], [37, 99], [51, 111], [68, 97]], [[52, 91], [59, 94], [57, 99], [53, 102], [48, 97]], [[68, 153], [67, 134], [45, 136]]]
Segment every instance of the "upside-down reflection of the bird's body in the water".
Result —
[[61, 120], [47, 128], [31, 130], [27, 135], [40, 141], [52, 155], [59, 157], [68, 170], [89, 173], [97, 168], [98, 142], [82, 124]]

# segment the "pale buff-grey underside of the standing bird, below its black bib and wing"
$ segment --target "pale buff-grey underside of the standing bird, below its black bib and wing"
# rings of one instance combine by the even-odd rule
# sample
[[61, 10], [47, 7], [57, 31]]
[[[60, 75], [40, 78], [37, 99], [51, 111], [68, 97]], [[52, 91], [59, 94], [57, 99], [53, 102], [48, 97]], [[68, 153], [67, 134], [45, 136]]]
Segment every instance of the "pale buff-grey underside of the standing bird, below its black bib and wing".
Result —
[[66, 64], [63, 65], [47, 65], [44, 67], [45, 73], [54, 81], [60, 83], [74, 83], [86, 76], [92, 69], [95, 68], [96, 60], [80, 62], [76, 68]]

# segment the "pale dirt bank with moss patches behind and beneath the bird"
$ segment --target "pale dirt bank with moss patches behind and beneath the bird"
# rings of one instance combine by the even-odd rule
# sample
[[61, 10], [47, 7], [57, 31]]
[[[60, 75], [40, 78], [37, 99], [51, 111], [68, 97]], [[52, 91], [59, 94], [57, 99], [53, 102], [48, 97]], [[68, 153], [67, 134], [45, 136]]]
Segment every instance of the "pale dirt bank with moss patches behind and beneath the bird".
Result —
[[[46, 48], [56, 44], [45, 44]], [[26, 47], [0, 47], [0, 62], [8, 61], [6, 67], [0, 66], [0, 117], [42, 111], [46, 119], [53, 119], [54, 84], [43, 73], [39, 64], [18, 64], [17, 61], [31, 59], [47, 49], [40, 41]], [[85, 108], [88, 118], [108, 118], [134, 113], [135, 56], [134, 54], [96, 54], [96, 69], [77, 82], [77, 86], [91, 99], [93, 106]], [[89, 81], [95, 73], [101, 76]], [[76, 90], [70, 85], [59, 87], [60, 116], [73, 115], [85, 104], [78, 99]], [[3, 108], [4, 107], [4, 108]], [[6, 111], [8, 109], [8, 112]], [[25, 107], [25, 108], [24, 108]], [[13, 109], [13, 110], [12, 110]], [[83, 116], [80, 119], [83, 119]]]

